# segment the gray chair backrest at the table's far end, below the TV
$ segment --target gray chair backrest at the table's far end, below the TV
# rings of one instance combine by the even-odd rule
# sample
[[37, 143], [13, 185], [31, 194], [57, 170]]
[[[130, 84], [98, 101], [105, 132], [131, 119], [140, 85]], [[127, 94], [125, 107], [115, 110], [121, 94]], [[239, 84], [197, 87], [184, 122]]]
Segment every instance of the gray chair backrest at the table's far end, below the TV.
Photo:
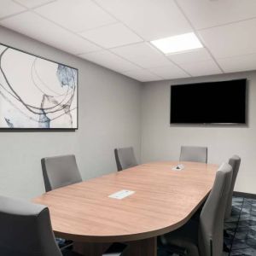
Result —
[[207, 147], [182, 146], [179, 160], [207, 163]]

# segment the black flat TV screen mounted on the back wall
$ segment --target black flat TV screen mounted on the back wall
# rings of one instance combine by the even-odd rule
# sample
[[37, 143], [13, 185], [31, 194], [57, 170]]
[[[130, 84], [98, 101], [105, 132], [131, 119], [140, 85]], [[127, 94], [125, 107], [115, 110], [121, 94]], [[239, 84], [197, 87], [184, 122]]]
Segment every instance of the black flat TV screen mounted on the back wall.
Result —
[[171, 124], [246, 124], [247, 79], [171, 86]]

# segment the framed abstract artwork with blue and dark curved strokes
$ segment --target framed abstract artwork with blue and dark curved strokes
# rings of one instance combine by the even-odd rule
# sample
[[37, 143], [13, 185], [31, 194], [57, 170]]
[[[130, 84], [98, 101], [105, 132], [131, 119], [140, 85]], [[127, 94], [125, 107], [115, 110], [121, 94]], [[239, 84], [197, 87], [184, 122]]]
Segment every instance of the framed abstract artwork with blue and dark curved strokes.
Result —
[[0, 129], [78, 129], [78, 69], [0, 44]]

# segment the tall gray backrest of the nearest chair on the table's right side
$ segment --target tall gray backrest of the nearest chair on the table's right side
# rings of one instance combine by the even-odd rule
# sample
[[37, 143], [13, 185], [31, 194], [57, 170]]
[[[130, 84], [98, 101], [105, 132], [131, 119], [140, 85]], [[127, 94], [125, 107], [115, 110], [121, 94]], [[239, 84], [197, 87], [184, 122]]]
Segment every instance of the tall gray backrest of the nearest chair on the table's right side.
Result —
[[223, 252], [224, 213], [230, 192], [232, 167], [219, 167], [212, 191], [202, 208], [199, 224], [199, 250], [201, 256], [220, 256]]

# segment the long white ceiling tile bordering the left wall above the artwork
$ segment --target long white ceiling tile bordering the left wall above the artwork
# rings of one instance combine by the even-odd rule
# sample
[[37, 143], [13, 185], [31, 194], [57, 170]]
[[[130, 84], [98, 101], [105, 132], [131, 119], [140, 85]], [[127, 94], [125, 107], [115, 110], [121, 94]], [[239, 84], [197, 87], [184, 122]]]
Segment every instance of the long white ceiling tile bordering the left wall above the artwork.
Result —
[[101, 49], [31, 12], [0, 20], [0, 25], [75, 55]]

